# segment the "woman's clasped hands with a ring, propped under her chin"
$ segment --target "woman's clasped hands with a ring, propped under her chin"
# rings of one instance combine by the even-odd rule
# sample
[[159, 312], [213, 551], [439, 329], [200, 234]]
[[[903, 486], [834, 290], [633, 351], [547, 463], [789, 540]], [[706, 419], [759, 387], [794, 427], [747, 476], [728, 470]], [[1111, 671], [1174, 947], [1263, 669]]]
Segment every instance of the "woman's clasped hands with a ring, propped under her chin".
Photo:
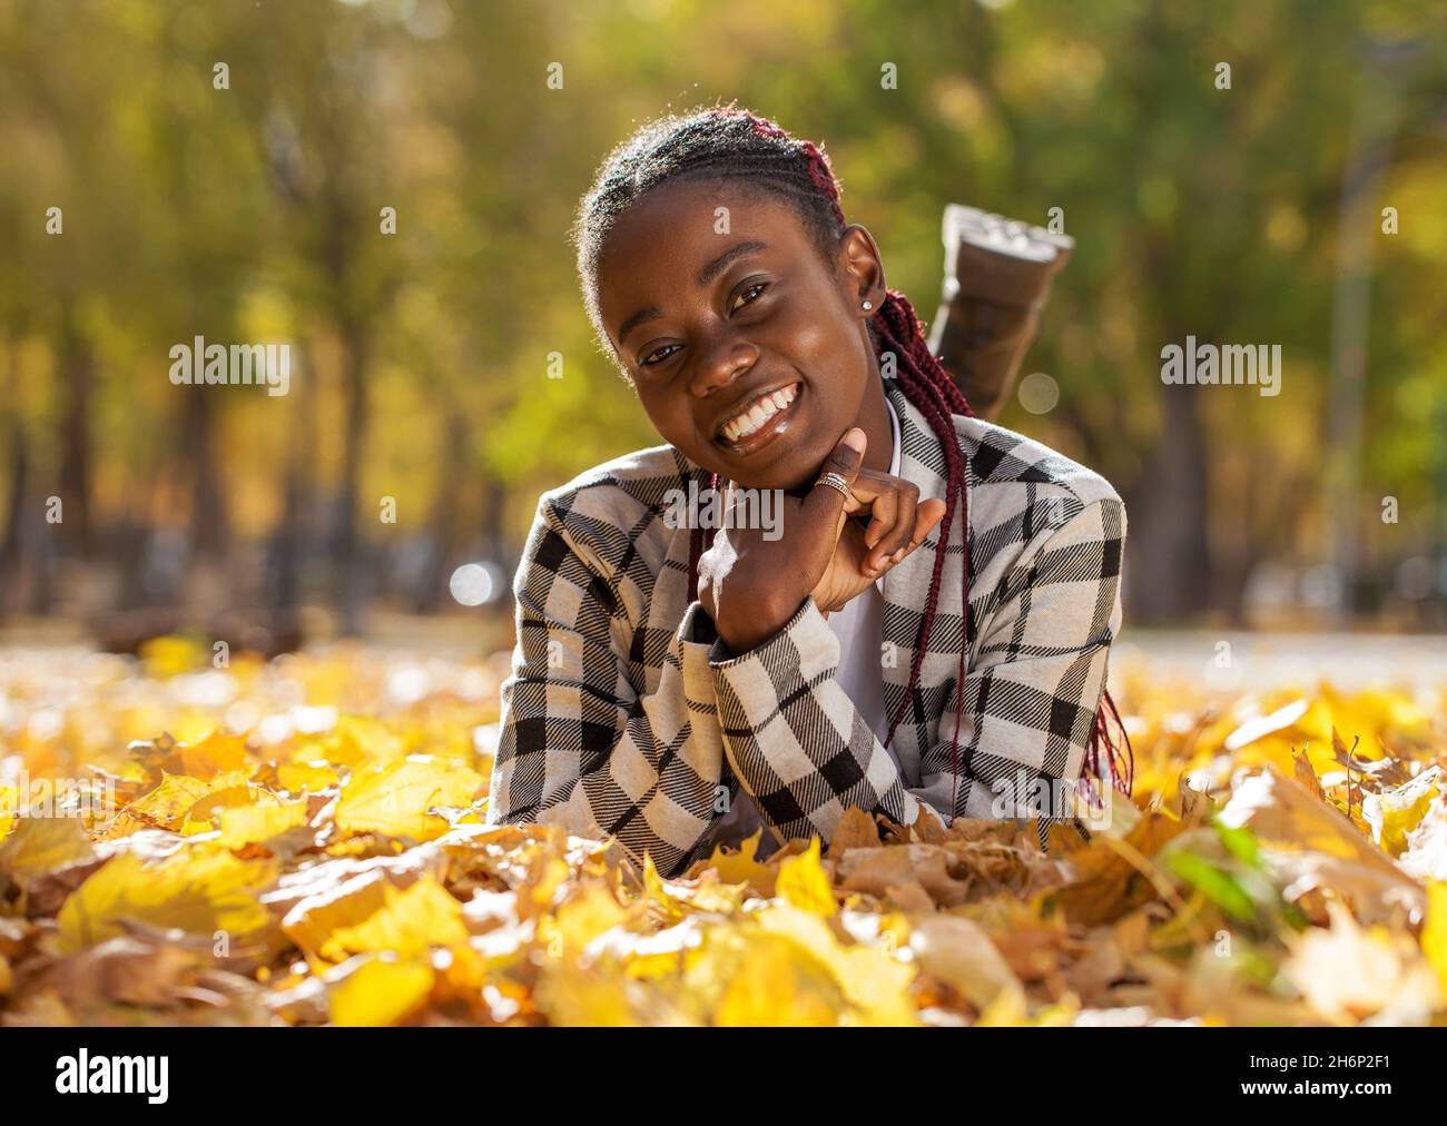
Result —
[[[783, 494], [780, 538], [724, 527], [699, 559], [699, 601], [731, 651], [747, 653], [771, 638], [809, 595], [822, 609], [842, 606], [939, 522], [942, 501], [920, 504], [910, 482], [861, 472], [864, 447], [864, 431], [851, 428], [820, 470], [839, 473], [849, 498], [828, 485], [815, 485], [803, 498]], [[851, 520], [864, 512], [868, 527]]]

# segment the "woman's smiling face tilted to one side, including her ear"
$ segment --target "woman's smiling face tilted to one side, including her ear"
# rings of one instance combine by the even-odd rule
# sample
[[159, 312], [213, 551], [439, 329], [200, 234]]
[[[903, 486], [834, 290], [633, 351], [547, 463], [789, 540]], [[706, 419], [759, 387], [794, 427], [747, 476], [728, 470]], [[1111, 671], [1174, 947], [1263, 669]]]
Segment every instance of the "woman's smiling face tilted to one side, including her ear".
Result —
[[644, 410], [696, 465], [747, 488], [797, 489], [851, 426], [877, 431], [878, 414], [888, 434], [861, 308], [880, 307], [884, 279], [864, 227], [845, 230], [831, 269], [787, 204], [666, 184], [609, 232], [598, 282]]

